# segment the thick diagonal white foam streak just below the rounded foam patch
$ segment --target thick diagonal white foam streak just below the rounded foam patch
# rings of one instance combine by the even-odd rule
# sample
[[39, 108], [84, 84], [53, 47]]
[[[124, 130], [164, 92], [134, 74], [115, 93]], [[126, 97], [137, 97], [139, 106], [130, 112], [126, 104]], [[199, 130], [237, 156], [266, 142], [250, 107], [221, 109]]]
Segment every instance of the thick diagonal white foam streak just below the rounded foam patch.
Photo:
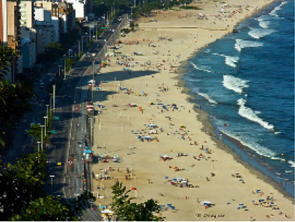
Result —
[[273, 125], [268, 124], [267, 121], [264, 121], [257, 116], [257, 114], [260, 114], [260, 112], [247, 108], [245, 106], [245, 103], [246, 101], [244, 98], [240, 98], [238, 100], [238, 105], [240, 105], [240, 108], [238, 109], [238, 114], [240, 114], [241, 117], [245, 117], [246, 119], [255, 121], [261, 126], [263, 126], [264, 128], [273, 130]]

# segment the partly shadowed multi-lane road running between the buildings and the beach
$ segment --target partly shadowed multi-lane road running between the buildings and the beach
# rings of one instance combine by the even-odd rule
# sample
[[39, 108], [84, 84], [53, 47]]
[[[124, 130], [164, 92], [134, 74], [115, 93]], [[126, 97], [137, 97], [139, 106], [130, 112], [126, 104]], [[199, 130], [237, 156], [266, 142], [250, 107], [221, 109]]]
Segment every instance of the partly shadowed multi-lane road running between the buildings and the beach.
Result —
[[[120, 22], [115, 20], [111, 24], [110, 30], [117, 29], [119, 26]], [[88, 52], [96, 53], [103, 52], [103, 49], [106, 50], [106, 45], [111, 44], [117, 39], [117, 37], [114, 37], [113, 31], [110, 30], [103, 32], [99, 40], [94, 42], [94, 45]], [[74, 48], [73, 51], [75, 51]], [[104, 55], [104, 53], [101, 53], [101, 55]], [[89, 119], [87, 121], [85, 116], [87, 111], [83, 103], [85, 100], [91, 100], [87, 82], [92, 79], [92, 66], [94, 65], [94, 71], [98, 71], [100, 61], [101, 58], [97, 57], [82, 57], [75, 65], [75, 68], [73, 68], [71, 76], [66, 76], [66, 80], [64, 80], [59, 91], [59, 96], [55, 100], [56, 110], [52, 130], [55, 130], [56, 133], [50, 138], [50, 146], [43, 147], [48, 155], [48, 172], [52, 177], [48, 177], [44, 188], [45, 191], [52, 195], [62, 196], [64, 200], [71, 200], [84, 190], [92, 191], [91, 165], [82, 160], [83, 149], [89, 145], [89, 133], [87, 133], [86, 126], [88, 123], [89, 127]], [[62, 63], [62, 61], [59, 61], [59, 63]], [[41, 78], [42, 81], [48, 82], [50, 78], [54, 77], [53, 73], [57, 71], [57, 66], [50, 68], [50, 71]], [[48, 92], [40, 90], [38, 87], [39, 83], [36, 82], [34, 84], [35, 94], [41, 100], [44, 98], [43, 103], [45, 103], [45, 98], [48, 98], [46, 95]], [[49, 101], [47, 104], [49, 104]], [[44, 123], [43, 116], [46, 116], [45, 104], [35, 104], [31, 111], [24, 114], [22, 124], [15, 131], [13, 147], [11, 147], [6, 157], [2, 157], [3, 161], [13, 163], [15, 158], [19, 158], [26, 152], [30, 153], [33, 151], [28, 147], [31, 147], [33, 144], [36, 145], [36, 141], [26, 135], [24, 130], [29, 129], [31, 122]], [[71, 162], [73, 162], [73, 165], [71, 166], [68, 165], [69, 158], [72, 158]], [[62, 163], [62, 165], [57, 165], [57, 163]], [[50, 182], [51, 179], [53, 183]], [[90, 212], [92, 214], [89, 214], [85, 218], [86, 220], [101, 220], [99, 212]]]

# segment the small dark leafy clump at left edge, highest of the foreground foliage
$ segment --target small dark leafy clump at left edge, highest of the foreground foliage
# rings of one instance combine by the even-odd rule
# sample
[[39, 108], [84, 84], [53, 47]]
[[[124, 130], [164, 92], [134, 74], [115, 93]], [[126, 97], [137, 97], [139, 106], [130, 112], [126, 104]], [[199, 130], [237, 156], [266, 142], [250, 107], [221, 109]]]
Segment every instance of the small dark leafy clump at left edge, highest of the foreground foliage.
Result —
[[17, 54], [11, 47], [0, 44], [0, 78], [6, 76], [10, 64], [15, 62]]

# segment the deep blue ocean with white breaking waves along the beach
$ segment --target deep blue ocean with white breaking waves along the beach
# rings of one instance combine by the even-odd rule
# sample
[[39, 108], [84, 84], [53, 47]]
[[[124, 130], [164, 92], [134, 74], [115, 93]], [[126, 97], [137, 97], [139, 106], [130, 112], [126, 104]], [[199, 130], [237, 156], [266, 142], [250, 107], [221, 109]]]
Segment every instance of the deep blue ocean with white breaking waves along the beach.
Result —
[[236, 31], [189, 59], [183, 79], [217, 137], [294, 196], [294, 0]]

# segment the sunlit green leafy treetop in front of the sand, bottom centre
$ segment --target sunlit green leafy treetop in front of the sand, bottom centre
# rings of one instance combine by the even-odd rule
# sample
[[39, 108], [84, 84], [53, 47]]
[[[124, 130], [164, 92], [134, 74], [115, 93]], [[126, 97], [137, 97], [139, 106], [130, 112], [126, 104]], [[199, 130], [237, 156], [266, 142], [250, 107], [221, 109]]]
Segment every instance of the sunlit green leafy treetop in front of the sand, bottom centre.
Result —
[[131, 202], [134, 198], [129, 198], [126, 186], [122, 183], [116, 182], [113, 186], [113, 202], [112, 209], [115, 214], [123, 221], [164, 221], [161, 216], [155, 216], [159, 214], [160, 206], [157, 204], [157, 200], [147, 200], [143, 203], [137, 204]]

